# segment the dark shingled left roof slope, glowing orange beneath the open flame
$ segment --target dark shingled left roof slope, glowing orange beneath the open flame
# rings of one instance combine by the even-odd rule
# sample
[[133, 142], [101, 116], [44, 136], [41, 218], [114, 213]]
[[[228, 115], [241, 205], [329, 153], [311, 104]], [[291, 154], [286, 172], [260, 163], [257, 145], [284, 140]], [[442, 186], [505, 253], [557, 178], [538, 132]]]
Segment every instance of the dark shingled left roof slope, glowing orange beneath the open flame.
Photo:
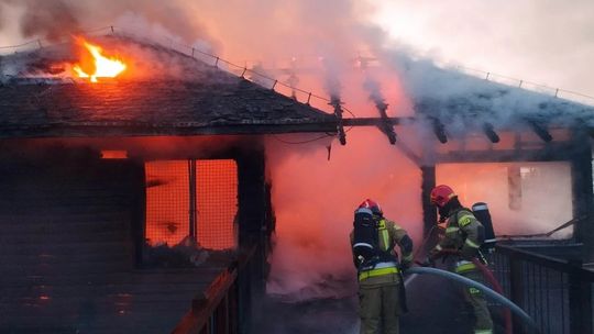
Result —
[[[0, 81], [0, 137], [336, 132], [332, 114], [174, 51], [134, 47], [161, 66], [158, 76], [88, 84], [25, 73]], [[64, 59], [43, 52], [13, 57], [35, 69]]]

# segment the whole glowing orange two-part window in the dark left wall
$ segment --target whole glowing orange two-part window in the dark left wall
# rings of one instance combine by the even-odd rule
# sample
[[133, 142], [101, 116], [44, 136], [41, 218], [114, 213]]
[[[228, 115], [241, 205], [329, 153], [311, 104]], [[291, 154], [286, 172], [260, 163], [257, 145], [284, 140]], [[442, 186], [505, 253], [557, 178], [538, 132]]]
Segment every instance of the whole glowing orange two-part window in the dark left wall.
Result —
[[186, 236], [209, 249], [237, 245], [238, 168], [234, 160], [145, 164], [150, 245], [174, 246]]

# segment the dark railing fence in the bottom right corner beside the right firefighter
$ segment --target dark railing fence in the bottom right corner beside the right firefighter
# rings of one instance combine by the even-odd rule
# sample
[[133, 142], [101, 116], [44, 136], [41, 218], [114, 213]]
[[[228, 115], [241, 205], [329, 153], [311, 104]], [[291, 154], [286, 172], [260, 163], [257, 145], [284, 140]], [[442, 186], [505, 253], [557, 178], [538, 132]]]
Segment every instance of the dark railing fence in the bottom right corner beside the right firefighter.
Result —
[[[535, 320], [540, 333], [593, 333], [594, 271], [581, 261], [498, 245], [493, 265], [506, 296]], [[516, 319], [514, 333], [526, 333]]]

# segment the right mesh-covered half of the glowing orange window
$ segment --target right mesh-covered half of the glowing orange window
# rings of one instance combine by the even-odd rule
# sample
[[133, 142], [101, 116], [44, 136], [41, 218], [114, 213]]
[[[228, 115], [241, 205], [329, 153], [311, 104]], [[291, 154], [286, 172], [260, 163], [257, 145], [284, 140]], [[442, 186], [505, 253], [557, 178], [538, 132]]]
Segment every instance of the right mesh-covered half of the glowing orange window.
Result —
[[205, 248], [235, 247], [238, 166], [234, 160], [198, 160], [196, 165], [198, 242]]

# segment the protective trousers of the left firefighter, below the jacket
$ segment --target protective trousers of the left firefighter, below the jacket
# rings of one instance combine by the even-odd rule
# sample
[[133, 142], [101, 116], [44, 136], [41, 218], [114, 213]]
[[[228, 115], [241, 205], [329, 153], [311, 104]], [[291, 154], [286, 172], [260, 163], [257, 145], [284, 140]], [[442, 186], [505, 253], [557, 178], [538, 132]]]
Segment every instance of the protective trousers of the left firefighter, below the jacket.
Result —
[[397, 281], [382, 285], [360, 285], [361, 334], [399, 333], [398, 285]]

